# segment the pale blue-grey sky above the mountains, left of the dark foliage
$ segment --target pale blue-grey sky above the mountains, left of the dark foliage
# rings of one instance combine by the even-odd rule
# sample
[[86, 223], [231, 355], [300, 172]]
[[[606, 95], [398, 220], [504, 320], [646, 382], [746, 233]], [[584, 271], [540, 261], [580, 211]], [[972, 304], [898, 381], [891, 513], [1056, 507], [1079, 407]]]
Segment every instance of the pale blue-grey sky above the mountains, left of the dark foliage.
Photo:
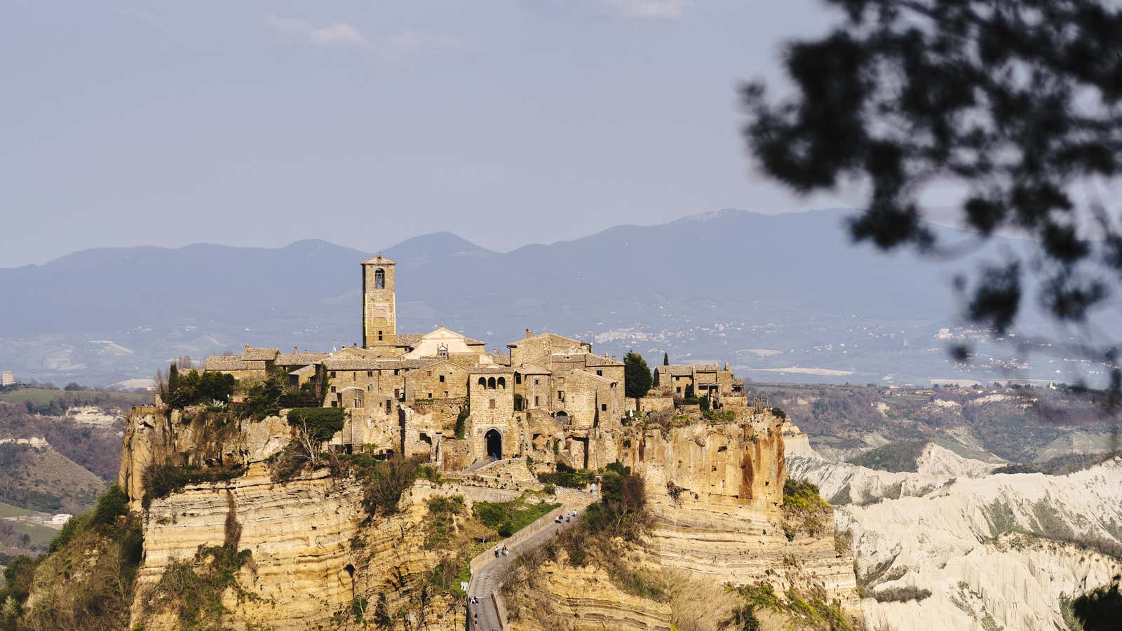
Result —
[[485, 247], [795, 199], [735, 88], [817, 0], [0, 0], [0, 266], [103, 246]]

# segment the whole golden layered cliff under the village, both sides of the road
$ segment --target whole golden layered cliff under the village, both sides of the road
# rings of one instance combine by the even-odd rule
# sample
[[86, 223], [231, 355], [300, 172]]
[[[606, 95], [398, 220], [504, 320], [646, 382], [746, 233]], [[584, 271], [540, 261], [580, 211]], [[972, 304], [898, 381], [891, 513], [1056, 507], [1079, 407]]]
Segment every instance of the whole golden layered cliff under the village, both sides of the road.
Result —
[[[857, 612], [853, 559], [836, 545], [833, 520], [808, 527], [783, 506], [780, 419], [742, 410], [724, 422], [662, 420], [670, 422], [615, 437], [619, 470], [629, 467], [645, 484], [642, 540], [601, 538], [587, 555], [570, 541], [540, 559], [508, 594], [512, 628], [715, 630], [744, 606], [733, 587], [760, 584], [787, 593], [784, 602], [813, 595], [813, 603]], [[80, 554], [40, 566], [29, 606], [39, 620], [75, 619], [50, 609], [75, 585], [65, 569], [79, 563], [66, 560], [73, 558], [110, 576], [126, 568], [116, 574], [127, 576], [118, 582], [117, 609], [129, 609], [128, 624], [146, 630], [461, 629], [468, 560], [498, 538], [473, 503], [558, 500], [526, 494], [542, 485], [518, 482], [528, 476], [523, 461], [496, 465], [509, 475], [484, 486], [475, 478], [486, 476], [413, 482], [411, 474], [396, 492], [385, 488], [396, 475], [390, 463], [367, 456], [283, 473], [296, 445], [292, 431], [279, 417], [135, 409], [118, 492], [118, 514], [131, 509], [131, 516], [105, 522], [132, 524], [136, 542], [142, 534], [129, 566], [135, 580], [125, 565], [91, 565], [108, 557], [98, 549], [104, 531], [90, 530]], [[162, 470], [172, 482], [159, 482]], [[116, 554], [127, 552], [122, 545]], [[570, 554], [578, 552], [587, 558], [574, 563]], [[83, 588], [94, 574], [81, 573]], [[801, 623], [778, 615], [778, 624]]]

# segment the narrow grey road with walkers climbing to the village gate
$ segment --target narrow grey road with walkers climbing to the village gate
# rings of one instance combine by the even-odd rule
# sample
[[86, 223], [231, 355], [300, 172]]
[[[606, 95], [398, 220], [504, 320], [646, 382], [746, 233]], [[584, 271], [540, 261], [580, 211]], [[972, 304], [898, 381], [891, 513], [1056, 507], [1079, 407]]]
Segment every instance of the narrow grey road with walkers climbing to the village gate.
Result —
[[[596, 501], [596, 496], [590, 493], [574, 491], [561, 497], [563, 514], [572, 515], [573, 511], [577, 511], [579, 516], [585, 512], [585, 509], [589, 504]], [[468, 631], [504, 631], [506, 628], [503, 625], [503, 616], [498, 610], [498, 601], [496, 600], [496, 593], [498, 592], [499, 584], [503, 577], [506, 576], [511, 566], [514, 565], [515, 557], [518, 552], [524, 552], [526, 550], [532, 550], [539, 546], [544, 545], [550, 539], [557, 536], [560, 530], [570, 528], [572, 523], [555, 524], [553, 523], [554, 512], [551, 512], [542, 518], [537, 519], [524, 530], [530, 530], [528, 537], [524, 537], [521, 540], [512, 543], [506, 543], [511, 539], [500, 542], [498, 546], [502, 549], [503, 543], [507, 545], [509, 555], [504, 557], [502, 555], [498, 558], [494, 558], [494, 548], [488, 550], [487, 555], [491, 555], [493, 558], [486, 565], [479, 567], [471, 574], [471, 582], [468, 583]], [[516, 532], [512, 538], [522, 534], [522, 532]], [[478, 598], [478, 604], [471, 604], [470, 598], [475, 596]], [[504, 612], [505, 613], [505, 612]], [[478, 620], [472, 621], [472, 615], [477, 614]]]

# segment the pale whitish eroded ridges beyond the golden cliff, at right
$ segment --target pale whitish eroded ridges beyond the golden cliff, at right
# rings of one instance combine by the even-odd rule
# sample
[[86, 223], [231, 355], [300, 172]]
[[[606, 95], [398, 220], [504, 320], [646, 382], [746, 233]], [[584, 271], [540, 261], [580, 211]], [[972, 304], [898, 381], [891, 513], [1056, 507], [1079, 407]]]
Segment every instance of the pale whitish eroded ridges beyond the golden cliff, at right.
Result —
[[1065, 629], [1070, 598], [1122, 571], [1122, 459], [1063, 476], [990, 474], [937, 447], [921, 460], [914, 474], [788, 460], [839, 504], [871, 624]]

